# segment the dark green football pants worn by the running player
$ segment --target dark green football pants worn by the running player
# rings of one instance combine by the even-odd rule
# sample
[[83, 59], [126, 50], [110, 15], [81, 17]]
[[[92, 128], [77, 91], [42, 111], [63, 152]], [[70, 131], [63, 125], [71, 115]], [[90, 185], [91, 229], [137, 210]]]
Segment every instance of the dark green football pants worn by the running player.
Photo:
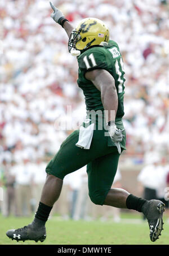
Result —
[[74, 131], [46, 167], [48, 174], [63, 180], [68, 173], [87, 164], [89, 196], [96, 205], [103, 205], [113, 184], [119, 159], [117, 147], [108, 146], [108, 137], [104, 136], [104, 132], [95, 130], [90, 149], [81, 149], [75, 146], [79, 131]]

